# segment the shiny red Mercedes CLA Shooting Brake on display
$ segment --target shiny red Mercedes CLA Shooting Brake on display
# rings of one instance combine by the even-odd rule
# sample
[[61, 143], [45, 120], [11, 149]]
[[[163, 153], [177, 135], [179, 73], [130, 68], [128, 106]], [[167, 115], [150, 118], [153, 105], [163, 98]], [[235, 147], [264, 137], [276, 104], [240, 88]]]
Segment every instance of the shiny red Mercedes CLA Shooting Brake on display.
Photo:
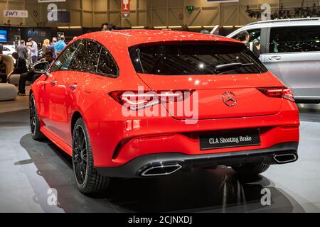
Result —
[[297, 160], [289, 88], [243, 43], [181, 31], [88, 33], [30, 92], [31, 133], [73, 157], [80, 192], [111, 177], [158, 177], [228, 165], [257, 175]]

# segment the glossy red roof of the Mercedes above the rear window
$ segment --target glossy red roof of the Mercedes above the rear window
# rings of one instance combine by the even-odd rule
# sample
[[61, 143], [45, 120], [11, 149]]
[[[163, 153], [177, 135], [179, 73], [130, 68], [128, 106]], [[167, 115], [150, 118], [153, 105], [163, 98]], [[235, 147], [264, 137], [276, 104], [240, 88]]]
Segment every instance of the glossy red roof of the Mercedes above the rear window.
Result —
[[237, 40], [225, 38], [220, 35], [208, 35], [202, 33], [193, 33], [186, 31], [164, 31], [164, 30], [117, 30], [100, 31], [81, 35], [77, 39], [93, 38], [100, 43], [109, 45], [117, 44], [127, 47], [143, 43], [164, 43], [171, 41], [221, 41], [240, 43]]

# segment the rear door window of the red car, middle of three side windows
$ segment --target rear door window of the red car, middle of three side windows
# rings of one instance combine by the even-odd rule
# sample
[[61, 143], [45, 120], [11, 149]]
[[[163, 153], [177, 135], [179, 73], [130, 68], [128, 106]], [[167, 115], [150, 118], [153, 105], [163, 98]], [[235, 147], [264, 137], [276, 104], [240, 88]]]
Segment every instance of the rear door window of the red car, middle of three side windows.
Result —
[[70, 70], [80, 72], [97, 72], [98, 56], [102, 45], [92, 40], [83, 40], [79, 45], [79, 50]]

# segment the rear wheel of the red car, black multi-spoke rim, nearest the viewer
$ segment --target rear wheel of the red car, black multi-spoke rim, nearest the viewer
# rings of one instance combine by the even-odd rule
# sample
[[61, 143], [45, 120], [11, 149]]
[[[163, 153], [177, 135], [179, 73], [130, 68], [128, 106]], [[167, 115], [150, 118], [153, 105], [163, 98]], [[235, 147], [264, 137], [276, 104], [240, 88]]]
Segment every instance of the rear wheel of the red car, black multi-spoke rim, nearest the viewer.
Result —
[[78, 118], [73, 128], [73, 172], [83, 194], [105, 192], [110, 184], [109, 177], [103, 177], [95, 170], [89, 133], [82, 118]]

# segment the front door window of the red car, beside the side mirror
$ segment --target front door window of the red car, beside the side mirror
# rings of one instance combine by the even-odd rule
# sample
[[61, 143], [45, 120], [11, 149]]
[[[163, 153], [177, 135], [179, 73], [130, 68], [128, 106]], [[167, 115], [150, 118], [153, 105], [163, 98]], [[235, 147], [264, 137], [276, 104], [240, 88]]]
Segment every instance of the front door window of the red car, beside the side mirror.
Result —
[[73, 61], [73, 57], [75, 52], [77, 51], [79, 45], [79, 41], [71, 44], [63, 50], [63, 52], [59, 55], [58, 59], [55, 60], [51, 68], [51, 72], [59, 71], [59, 70], [68, 70], [70, 66], [70, 62]]

